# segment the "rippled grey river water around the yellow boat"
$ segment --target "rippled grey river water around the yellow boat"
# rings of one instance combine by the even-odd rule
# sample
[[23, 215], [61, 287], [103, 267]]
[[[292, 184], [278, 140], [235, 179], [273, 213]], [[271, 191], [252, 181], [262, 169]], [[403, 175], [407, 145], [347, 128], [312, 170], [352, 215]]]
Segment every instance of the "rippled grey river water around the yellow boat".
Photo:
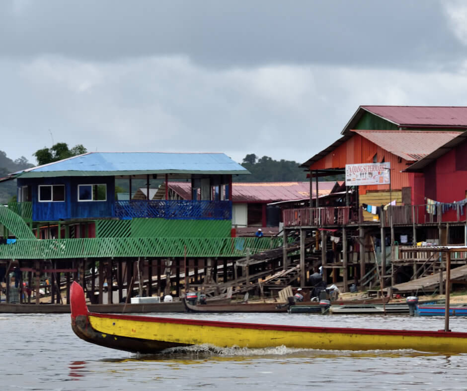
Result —
[[[155, 314], [156, 315], [156, 314]], [[316, 314], [163, 314], [234, 322], [444, 328], [444, 318]], [[467, 318], [451, 318], [465, 331]], [[79, 339], [70, 315], [0, 314], [1, 390], [467, 390], [467, 354], [195, 346], [144, 356]]]

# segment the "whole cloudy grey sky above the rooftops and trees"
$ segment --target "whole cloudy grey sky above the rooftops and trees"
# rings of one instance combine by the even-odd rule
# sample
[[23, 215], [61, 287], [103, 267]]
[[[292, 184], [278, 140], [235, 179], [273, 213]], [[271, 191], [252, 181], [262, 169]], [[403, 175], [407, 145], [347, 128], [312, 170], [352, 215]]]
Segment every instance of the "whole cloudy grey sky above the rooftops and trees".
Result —
[[360, 105], [467, 106], [463, 0], [2, 0], [0, 150], [303, 163]]

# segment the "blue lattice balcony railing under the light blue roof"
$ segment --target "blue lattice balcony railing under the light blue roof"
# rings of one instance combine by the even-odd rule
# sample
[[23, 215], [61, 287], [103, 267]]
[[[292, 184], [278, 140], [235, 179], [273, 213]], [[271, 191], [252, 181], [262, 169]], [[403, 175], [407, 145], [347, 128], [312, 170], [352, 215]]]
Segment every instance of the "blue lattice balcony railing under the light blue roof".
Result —
[[169, 220], [231, 220], [232, 201], [125, 200], [115, 202], [115, 216]]

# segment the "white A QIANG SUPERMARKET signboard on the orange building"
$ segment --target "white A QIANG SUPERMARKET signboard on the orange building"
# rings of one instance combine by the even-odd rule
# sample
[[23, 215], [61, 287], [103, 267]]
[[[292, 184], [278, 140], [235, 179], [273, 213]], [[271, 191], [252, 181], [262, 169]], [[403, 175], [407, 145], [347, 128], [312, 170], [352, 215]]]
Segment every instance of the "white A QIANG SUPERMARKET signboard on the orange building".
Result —
[[390, 162], [345, 165], [345, 186], [389, 185]]

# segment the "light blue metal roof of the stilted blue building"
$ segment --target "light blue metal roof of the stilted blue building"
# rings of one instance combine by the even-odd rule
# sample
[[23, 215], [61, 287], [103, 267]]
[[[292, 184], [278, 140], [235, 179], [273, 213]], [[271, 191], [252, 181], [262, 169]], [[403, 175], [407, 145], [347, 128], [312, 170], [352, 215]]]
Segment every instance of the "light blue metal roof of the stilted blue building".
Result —
[[18, 178], [138, 175], [138, 174], [249, 174], [224, 153], [88, 152], [69, 159], [14, 173]]

